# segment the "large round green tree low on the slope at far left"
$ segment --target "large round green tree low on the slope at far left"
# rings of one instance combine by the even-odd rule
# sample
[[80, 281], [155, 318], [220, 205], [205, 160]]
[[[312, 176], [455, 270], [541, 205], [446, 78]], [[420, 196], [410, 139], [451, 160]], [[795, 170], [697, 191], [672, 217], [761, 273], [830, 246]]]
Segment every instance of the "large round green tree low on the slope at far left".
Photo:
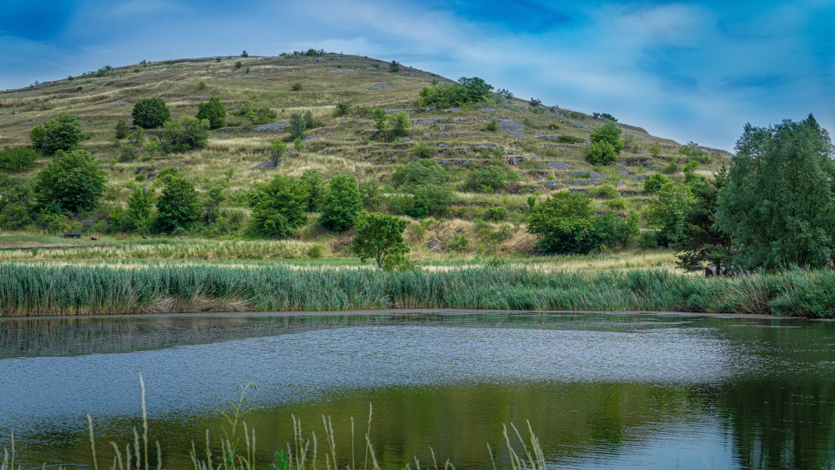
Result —
[[41, 206], [57, 204], [63, 211], [78, 213], [94, 209], [107, 186], [107, 171], [89, 151], [58, 152], [35, 177], [35, 192]]

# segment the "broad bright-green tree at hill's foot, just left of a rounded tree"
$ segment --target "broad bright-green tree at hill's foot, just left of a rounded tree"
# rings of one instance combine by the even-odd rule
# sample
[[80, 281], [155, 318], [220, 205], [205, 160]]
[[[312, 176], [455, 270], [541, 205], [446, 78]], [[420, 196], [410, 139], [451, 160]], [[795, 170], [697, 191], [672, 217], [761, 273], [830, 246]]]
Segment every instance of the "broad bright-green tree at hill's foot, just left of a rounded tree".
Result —
[[307, 222], [307, 192], [292, 176], [276, 175], [258, 185], [250, 198], [247, 232], [263, 238], [287, 238]]

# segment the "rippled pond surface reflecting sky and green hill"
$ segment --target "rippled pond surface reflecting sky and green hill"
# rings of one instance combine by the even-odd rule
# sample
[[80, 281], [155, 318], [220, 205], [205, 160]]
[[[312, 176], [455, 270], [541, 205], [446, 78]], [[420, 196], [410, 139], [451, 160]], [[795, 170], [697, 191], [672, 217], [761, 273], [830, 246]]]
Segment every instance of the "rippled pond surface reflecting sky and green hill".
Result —
[[490, 467], [485, 444], [529, 420], [556, 467], [827, 468], [833, 345], [833, 323], [655, 314], [6, 319], [0, 432], [27, 463], [89, 462], [85, 414], [102, 442], [128, 442], [141, 372], [171, 468], [249, 381], [265, 462], [291, 412], [316, 431], [331, 415], [350, 459], [349, 420], [361, 436], [373, 402], [384, 467], [428, 446]]

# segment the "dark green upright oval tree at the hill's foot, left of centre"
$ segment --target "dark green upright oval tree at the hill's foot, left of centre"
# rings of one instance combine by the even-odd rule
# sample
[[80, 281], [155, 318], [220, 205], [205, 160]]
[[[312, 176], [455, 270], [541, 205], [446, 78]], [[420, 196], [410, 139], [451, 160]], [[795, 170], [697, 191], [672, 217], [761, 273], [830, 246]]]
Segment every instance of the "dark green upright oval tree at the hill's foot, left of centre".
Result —
[[181, 176], [170, 178], [156, 207], [157, 226], [160, 232], [165, 233], [188, 230], [203, 213], [195, 184]]

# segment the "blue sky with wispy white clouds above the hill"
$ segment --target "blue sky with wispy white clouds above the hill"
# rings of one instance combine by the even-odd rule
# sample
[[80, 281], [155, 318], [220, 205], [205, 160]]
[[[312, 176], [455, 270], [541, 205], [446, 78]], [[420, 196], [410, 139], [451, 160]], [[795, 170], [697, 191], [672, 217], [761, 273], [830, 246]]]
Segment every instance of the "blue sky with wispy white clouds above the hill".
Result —
[[835, 0], [0, 0], [0, 89], [99, 69], [326, 49], [733, 150], [812, 113], [835, 132]]

